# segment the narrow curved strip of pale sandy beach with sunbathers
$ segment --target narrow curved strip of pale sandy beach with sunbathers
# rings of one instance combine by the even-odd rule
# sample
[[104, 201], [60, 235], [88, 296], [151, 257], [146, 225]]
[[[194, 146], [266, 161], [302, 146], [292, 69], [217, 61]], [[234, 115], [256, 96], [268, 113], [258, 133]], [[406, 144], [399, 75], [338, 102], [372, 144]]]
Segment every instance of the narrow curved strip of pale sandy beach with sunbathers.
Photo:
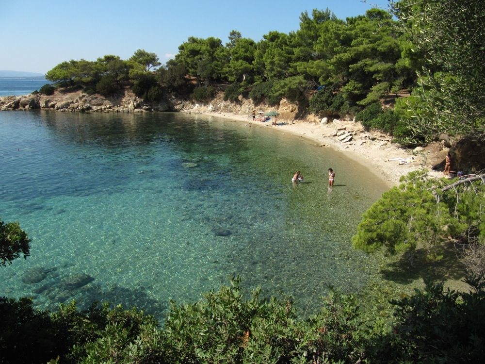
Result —
[[[186, 110], [187, 113], [223, 117], [244, 122], [251, 128], [271, 128], [275, 132], [291, 133], [316, 143], [321, 148], [331, 148], [344, 153], [347, 157], [369, 168], [386, 182], [389, 187], [399, 184], [401, 176], [423, 167], [428, 174], [442, 177], [441, 171], [431, 169], [432, 165], [444, 160], [446, 150], [439, 150], [439, 145], [429, 145], [416, 152], [401, 148], [392, 142], [392, 137], [380, 132], [367, 132], [362, 125], [352, 120], [333, 120], [327, 124], [308, 120], [277, 119], [266, 122], [253, 121], [250, 115], [243, 116], [227, 112], [210, 112], [200, 109]], [[352, 138], [348, 136], [352, 135]], [[349, 141], [344, 141], [350, 139]]]

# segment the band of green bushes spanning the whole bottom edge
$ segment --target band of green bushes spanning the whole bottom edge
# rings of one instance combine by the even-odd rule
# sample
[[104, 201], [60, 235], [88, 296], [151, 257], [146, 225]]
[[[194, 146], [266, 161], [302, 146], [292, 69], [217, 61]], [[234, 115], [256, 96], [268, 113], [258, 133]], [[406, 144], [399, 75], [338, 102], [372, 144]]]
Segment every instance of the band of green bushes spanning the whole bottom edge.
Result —
[[[245, 299], [240, 279], [193, 304], [171, 303], [164, 326], [143, 312], [109, 308], [55, 313], [0, 299], [2, 363], [479, 363], [485, 359], [484, 284], [443, 292], [427, 282], [397, 306], [391, 331], [338, 292], [318, 314], [297, 316], [291, 299]], [[32, 330], [35, 328], [35, 330]]]

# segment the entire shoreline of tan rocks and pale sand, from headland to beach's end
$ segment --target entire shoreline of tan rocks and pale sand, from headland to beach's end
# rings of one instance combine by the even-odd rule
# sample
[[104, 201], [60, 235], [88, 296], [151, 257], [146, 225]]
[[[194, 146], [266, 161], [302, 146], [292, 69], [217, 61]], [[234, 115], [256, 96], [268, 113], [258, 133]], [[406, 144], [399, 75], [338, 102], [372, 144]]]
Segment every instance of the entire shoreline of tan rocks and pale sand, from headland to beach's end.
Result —
[[[56, 90], [47, 96], [32, 93], [25, 96], [0, 97], [0, 111], [20, 111], [46, 109], [57, 112], [184, 112], [226, 117], [245, 122], [246, 125], [269, 126], [270, 123], [252, 121], [252, 111], [278, 112], [278, 125], [275, 130], [300, 135], [312, 140], [318, 147], [329, 147], [344, 152], [363, 165], [369, 166], [373, 173], [389, 186], [399, 183], [399, 178], [407, 172], [427, 168], [439, 177], [436, 166], [444, 160], [449, 150], [442, 143], [434, 143], [424, 148], [405, 149], [393, 143], [392, 137], [381, 133], [366, 131], [362, 125], [349, 118], [320, 118], [313, 114], [299, 116], [298, 108], [286, 99], [276, 107], [265, 104], [255, 105], [250, 99], [230, 102], [223, 99], [223, 93], [207, 103], [177, 99], [172, 97], [157, 103], [147, 103], [138, 98], [129, 88], [120, 96], [105, 98], [99, 94], [88, 95], [81, 90]], [[439, 169], [439, 168], [438, 168]]]

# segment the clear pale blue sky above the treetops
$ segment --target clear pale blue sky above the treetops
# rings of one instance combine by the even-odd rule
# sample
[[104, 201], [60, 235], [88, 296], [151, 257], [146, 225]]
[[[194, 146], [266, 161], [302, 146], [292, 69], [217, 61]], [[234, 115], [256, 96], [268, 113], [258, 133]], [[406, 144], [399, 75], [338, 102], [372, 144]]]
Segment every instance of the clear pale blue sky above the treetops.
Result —
[[259, 41], [296, 31], [304, 11], [328, 8], [345, 19], [373, 6], [387, 9], [388, 0], [1, 0], [0, 70], [45, 73], [70, 59], [128, 59], [138, 49], [164, 63], [189, 36], [225, 44], [237, 30]]

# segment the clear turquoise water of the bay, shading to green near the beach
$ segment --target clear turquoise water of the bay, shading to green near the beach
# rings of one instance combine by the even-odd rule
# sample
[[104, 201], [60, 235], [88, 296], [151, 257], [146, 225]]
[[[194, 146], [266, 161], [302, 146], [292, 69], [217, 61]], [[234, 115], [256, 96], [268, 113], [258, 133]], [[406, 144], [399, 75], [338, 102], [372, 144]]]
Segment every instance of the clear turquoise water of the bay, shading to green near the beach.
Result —
[[[186, 114], [0, 113], [0, 218], [32, 238], [27, 260], [0, 269], [0, 294], [43, 309], [108, 299], [162, 317], [169, 299], [194, 302], [235, 274], [302, 311], [328, 285], [357, 292], [377, 268], [350, 239], [385, 185], [271, 129]], [[305, 182], [293, 185], [297, 169]]]

